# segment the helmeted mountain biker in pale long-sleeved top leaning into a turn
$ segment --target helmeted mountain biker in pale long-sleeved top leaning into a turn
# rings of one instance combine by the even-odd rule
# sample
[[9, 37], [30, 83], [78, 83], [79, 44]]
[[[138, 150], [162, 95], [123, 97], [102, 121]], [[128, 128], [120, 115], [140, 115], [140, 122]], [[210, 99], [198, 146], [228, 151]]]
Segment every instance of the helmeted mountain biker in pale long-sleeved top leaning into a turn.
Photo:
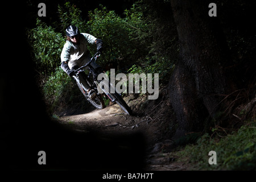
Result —
[[[96, 44], [97, 51], [102, 52], [102, 40], [97, 39], [94, 36], [86, 33], [80, 33], [79, 28], [76, 26], [69, 26], [66, 30], [67, 41], [64, 44], [63, 50], [61, 52], [61, 68], [70, 77], [75, 75], [74, 70], [80, 68], [81, 66], [88, 63], [90, 60], [89, 51], [87, 48], [87, 43]], [[100, 68], [99, 65], [92, 62], [91, 65], [97, 70]], [[92, 98], [95, 93], [93, 89], [90, 89], [88, 84], [84, 83], [84, 87], [88, 96]]]

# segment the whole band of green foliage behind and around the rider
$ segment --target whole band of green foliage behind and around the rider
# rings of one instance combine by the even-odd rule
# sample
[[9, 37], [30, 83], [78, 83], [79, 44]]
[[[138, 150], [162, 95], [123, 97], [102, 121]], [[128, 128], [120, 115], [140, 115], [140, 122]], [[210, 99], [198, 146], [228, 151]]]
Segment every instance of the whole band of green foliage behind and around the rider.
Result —
[[[59, 21], [53, 22], [51, 26], [38, 19], [36, 27], [27, 33], [36, 70], [45, 76], [43, 80], [47, 80], [40, 85], [43, 87], [46, 102], [58, 105], [75, 97], [71, 79], [59, 67], [60, 54], [65, 43], [65, 29], [71, 24], [79, 27], [81, 32], [103, 40], [104, 52], [98, 62], [100, 65], [112, 61], [121, 65], [122, 72], [134, 65], [128, 72], [159, 73], [160, 80], [168, 81], [166, 77], [170, 75], [175, 62], [170, 57], [176, 52], [166, 53], [169, 50], [166, 47], [167, 42], [175, 45], [175, 38], [172, 37], [170, 41], [157, 21], [145, 18], [146, 9], [143, 2], [135, 3], [131, 9], [125, 10], [124, 17], [121, 18], [115, 11], [109, 11], [100, 5], [94, 11], [89, 11], [86, 22], [82, 18], [81, 10], [66, 2], [58, 6]], [[88, 44], [88, 48], [91, 55], [96, 51], [94, 45]], [[174, 46], [172, 49], [175, 48]], [[68, 98], [63, 98], [64, 96]]]

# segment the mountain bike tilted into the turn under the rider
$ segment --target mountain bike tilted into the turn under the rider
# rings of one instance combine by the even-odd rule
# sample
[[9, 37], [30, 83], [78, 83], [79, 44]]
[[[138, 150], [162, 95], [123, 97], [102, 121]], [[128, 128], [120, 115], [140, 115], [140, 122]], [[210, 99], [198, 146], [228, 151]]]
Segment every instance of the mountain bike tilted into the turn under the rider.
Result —
[[[126, 102], [121, 97], [121, 94], [117, 93], [114, 86], [108, 80], [98, 80], [98, 75], [102, 72], [99, 72], [91, 65], [94, 61], [96, 63], [97, 58], [100, 56], [100, 53], [96, 53], [92, 59], [82, 67], [74, 70], [75, 75], [73, 76], [81, 90], [82, 94], [84, 95], [85, 99], [90, 102], [94, 107], [97, 109], [103, 109], [105, 107], [104, 104], [104, 94], [106, 98], [109, 98], [110, 101], [117, 103], [127, 114], [131, 115], [133, 112], [130, 107], [126, 104]], [[88, 76], [85, 75], [85, 69], [89, 69]], [[90, 86], [91, 89], [94, 90], [95, 95], [93, 98], [89, 97], [89, 94], [86, 92], [85, 89], [85, 82]], [[112, 93], [114, 90], [114, 93]], [[111, 92], [112, 91], [112, 92]]]

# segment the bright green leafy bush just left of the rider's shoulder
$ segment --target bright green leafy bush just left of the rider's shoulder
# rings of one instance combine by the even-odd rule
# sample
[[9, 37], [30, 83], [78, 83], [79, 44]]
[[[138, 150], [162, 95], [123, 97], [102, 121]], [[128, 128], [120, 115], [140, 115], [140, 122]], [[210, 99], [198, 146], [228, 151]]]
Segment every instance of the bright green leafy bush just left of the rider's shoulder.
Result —
[[60, 63], [61, 47], [65, 42], [63, 36], [39, 19], [36, 21], [36, 28], [29, 30], [27, 34], [36, 69], [43, 75], [51, 74]]

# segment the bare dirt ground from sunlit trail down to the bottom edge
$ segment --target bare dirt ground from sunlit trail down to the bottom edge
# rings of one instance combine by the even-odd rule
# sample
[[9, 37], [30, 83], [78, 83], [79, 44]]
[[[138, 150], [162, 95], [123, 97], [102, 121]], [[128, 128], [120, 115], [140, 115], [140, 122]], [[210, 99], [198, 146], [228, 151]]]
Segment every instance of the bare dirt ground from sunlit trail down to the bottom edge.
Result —
[[147, 96], [130, 94], [124, 98], [133, 110], [127, 115], [117, 104], [90, 113], [67, 115], [59, 122], [73, 130], [89, 132], [97, 130], [104, 134], [142, 133], [146, 138], [145, 170], [186, 170], [187, 164], [174, 162], [169, 157], [174, 140], [176, 117], [168, 100], [167, 89], [160, 90], [157, 100]]

